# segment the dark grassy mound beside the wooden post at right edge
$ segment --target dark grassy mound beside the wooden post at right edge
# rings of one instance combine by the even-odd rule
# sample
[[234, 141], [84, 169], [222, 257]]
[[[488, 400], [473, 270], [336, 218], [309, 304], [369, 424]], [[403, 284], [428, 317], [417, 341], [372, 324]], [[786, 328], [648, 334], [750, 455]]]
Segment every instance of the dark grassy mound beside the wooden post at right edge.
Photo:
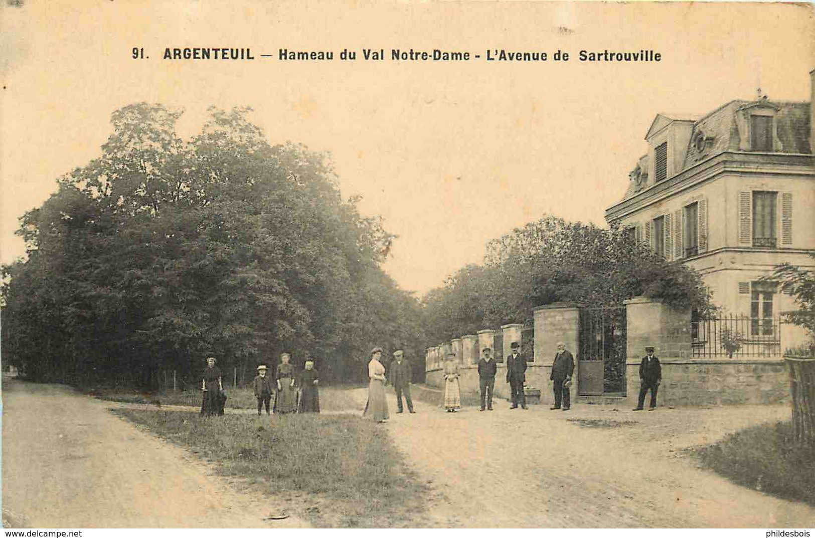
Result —
[[697, 453], [704, 466], [735, 483], [815, 505], [815, 446], [795, 444], [789, 422], [729, 434]]

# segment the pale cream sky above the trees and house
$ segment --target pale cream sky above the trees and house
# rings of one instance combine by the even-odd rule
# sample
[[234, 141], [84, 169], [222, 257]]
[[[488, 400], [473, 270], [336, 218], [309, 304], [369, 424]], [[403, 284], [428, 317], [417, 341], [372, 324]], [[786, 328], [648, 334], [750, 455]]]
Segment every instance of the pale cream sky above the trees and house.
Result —
[[[22, 6], [0, 7], [4, 263], [24, 254], [18, 218], [99, 156], [117, 108], [184, 108], [188, 136], [209, 106], [248, 105], [270, 143], [330, 152], [342, 196], [362, 196], [361, 212], [399, 236], [385, 270], [421, 294], [544, 214], [604, 226], [657, 112], [703, 114], [759, 87], [808, 101], [815, 68], [803, 4], [11, 3]], [[165, 47], [196, 46], [249, 48], [255, 60], [162, 60]], [[281, 48], [334, 60], [279, 60]], [[363, 60], [363, 48], [387, 60]], [[393, 61], [394, 48], [481, 58]], [[344, 49], [357, 60], [339, 60]], [[548, 60], [486, 60], [501, 49]], [[661, 61], [579, 61], [606, 49]], [[553, 60], [558, 50], [570, 59]]]

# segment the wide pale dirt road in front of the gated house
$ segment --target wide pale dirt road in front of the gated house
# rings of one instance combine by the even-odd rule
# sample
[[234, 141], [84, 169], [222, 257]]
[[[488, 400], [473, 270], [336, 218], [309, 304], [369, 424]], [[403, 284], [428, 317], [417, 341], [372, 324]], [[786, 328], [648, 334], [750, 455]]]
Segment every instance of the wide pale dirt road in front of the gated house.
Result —
[[386, 427], [421, 478], [432, 480], [434, 526], [815, 525], [815, 508], [729, 483], [682, 450], [786, 419], [783, 406], [632, 412], [576, 405], [562, 412], [509, 410], [500, 400], [493, 412], [394, 409], [390, 395]]

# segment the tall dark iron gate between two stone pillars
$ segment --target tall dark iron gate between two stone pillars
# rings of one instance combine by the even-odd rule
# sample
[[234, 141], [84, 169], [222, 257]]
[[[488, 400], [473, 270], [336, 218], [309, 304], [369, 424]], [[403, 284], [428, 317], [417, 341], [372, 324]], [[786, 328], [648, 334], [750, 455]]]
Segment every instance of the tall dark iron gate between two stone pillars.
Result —
[[625, 306], [580, 309], [577, 392], [625, 395]]

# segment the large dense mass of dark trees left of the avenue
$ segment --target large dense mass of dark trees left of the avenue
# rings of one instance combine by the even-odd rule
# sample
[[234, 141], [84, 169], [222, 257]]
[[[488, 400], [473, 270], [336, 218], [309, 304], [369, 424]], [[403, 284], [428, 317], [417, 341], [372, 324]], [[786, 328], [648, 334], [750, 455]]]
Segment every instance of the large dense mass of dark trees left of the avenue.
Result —
[[[246, 109], [112, 115], [101, 157], [21, 218], [3, 267], [3, 359], [35, 380], [192, 380], [213, 354], [248, 376], [281, 351], [359, 378], [373, 345], [415, 350], [419, 305], [380, 268], [394, 239], [343, 201], [323, 155], [271, 146]], [[421, 343], [421, 342], [420, 342]], [[420, 354], [421, 351], [414, 351]]]

